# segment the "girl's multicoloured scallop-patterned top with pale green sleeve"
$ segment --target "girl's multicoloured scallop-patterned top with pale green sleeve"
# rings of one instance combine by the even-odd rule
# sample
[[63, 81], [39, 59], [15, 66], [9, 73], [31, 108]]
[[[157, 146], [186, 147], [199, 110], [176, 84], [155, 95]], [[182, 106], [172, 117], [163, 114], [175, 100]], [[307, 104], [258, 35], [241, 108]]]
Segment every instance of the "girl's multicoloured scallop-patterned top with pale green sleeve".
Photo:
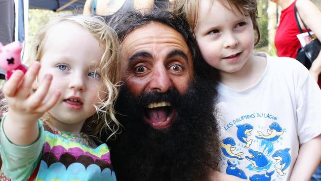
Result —
[[[0, 181], [116, 181], [106, 144], [96, 146], [85, 134], [52, 131], [39, 125], [40, 136], [28, 149], [10, 143], [1, 125]], [[42, 140], [41, 157], [35, 157], [34, 149], [39, 146], [33, 145]], [[19, 149], [21, 156], [15, 156]]]

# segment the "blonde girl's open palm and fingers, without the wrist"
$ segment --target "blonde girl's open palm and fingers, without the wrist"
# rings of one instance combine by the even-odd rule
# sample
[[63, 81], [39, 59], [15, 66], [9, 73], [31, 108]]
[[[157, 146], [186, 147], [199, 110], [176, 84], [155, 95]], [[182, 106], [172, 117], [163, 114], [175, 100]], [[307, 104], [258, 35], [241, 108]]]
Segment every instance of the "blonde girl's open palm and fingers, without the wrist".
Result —
[[[60, 92], [44, 101], [52, 75], [46, 75], [40, 87], [31, 93], [32, 85], [40, 70], [40, 63], [35, 62], [25, 75], [21, 71], [15, 71], [3, 87], [4, 96], [8, 102], [8, 113], [13, 113], [17, 118], [25, 121], [37, 121], [44, 112], [48, 111], [57, 102]], [[30, 120], [31, 119], [31, 120]]]

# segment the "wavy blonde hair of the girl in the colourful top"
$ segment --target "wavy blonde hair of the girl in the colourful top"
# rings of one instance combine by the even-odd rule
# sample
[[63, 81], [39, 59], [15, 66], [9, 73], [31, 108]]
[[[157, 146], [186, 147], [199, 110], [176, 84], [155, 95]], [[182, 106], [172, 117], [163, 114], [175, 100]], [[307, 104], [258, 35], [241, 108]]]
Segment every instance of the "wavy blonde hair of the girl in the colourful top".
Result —
[[[109, 130], [112, 135], [114, 135], [119, 129], [119, 122], [115, 117], [114, 103], [120, 86], [121, 61], [117, 35], [115, 31], [105, 23], [103, 18], [86, 15], [64, 15], [50, 20], [40, 28], [34, 41], [31, 43], [27, 62], [40, 61], [49, 30], [63, 21], [71, 21], [79, 24], [97, 39], [100, 46], [105, 47], [98, 71], [107, 90], [105, 92], [107, 96], [99, 97], [98, 104], [95, 106], [97, 114], [85, 121], [81, 132], [90, 136], [100, 136], [103, 130]], [[49, 119], [48, 115], [45, 116], [44, 120], [47, 120], [50, 124], [50, 116]]]

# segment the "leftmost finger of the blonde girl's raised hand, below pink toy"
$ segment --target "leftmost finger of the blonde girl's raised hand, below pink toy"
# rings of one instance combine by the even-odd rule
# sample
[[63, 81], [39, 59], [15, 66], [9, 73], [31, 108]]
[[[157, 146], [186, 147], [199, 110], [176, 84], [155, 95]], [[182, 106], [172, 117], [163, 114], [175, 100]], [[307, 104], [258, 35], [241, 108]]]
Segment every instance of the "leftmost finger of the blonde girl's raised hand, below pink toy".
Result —
[[17, 88], [23, 78], [23, 72], [16, 70], [11, 75], [10, 79], [3, 86], [3, 94], [6, 97], [12, 97], [16, 94]]

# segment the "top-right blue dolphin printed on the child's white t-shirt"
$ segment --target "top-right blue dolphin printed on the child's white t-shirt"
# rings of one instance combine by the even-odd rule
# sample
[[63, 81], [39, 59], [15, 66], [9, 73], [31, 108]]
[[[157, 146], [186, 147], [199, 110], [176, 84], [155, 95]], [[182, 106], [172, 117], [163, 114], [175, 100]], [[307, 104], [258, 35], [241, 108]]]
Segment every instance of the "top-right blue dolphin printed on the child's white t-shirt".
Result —
[[268, 135], [264, 135], [262, 132], [258, 131], [257, 133], [259, 135], [255, 137], [258, 139], [266, 139], [268, 141], [276, 141], [284, 133], [281, 126], [276, 122], [272, 123], [269, 128], [270, 129], [267, 129]]

